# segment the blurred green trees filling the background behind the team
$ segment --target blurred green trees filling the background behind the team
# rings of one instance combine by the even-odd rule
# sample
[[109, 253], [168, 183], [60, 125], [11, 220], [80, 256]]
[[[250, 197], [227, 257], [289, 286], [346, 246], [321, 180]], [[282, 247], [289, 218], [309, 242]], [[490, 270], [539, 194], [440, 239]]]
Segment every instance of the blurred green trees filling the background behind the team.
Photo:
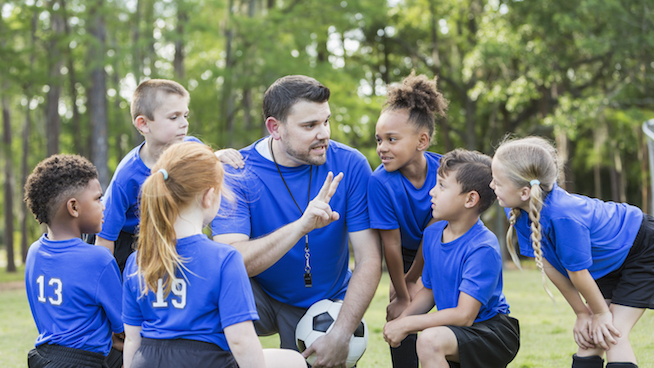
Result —
[[[386, 86], [416, 70], [438, 76], [450, 100], [431, 150], [492, 155], [507, 133], [546, 136], [566, 162], [569, 191], [651, 211], [640, 126], [654, 117], [652, 1], [0, 4], [0, 242], [10, 255], [24, 257], [40, 232], [22, 202], [26, 175], [50, 154], [79, 153], [106, 188], [140, 142], [129, 104], [148, 78], [187, 87], [190, 134], [214, 148], [242, 148], [265, 134], [265, 89], [283, 75], [313, 76], [332, 90], [333, 139], [361, 150], [374, 168]], [[485, 218], [499, 232], [497, 210]]]

